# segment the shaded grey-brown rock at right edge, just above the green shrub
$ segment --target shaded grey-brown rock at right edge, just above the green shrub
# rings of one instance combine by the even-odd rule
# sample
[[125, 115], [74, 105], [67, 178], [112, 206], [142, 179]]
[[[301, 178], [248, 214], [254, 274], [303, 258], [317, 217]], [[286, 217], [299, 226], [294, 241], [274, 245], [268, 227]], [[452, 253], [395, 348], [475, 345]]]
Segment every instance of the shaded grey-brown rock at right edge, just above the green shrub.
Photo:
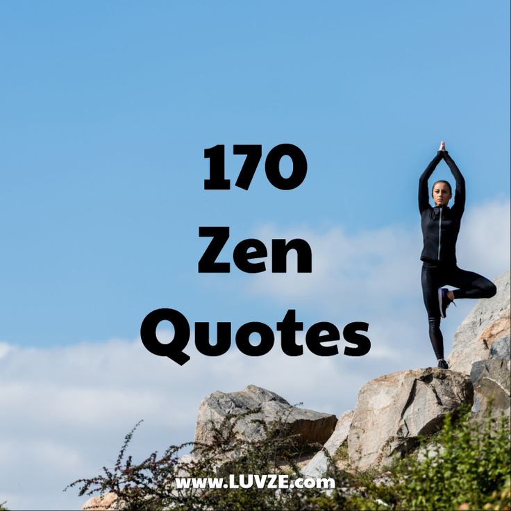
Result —
[[492, 416], [511, 415], [511, 362], [505, 358], [479, 360], [470, 371], [474, 385], [472, 412], [484, 415], [491, 403]]

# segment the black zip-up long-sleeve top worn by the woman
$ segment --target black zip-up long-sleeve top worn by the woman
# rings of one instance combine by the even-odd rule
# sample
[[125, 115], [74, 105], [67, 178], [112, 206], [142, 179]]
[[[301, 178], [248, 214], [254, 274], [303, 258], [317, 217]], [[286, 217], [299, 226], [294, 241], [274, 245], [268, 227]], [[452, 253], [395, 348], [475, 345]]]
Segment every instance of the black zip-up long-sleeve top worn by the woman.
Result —
[[[454, 204], [430, 206], [428, 178], [439, 164], [446, 161], [456, 181]], [[460, 232], [461, 217], [465, 208], [465, 180], [447, 151], [438, 151], [419, 178], [419, 211], [421, 213], [424, 248], [421, 260], [435, 264], [456, 264], [456, 240]]]

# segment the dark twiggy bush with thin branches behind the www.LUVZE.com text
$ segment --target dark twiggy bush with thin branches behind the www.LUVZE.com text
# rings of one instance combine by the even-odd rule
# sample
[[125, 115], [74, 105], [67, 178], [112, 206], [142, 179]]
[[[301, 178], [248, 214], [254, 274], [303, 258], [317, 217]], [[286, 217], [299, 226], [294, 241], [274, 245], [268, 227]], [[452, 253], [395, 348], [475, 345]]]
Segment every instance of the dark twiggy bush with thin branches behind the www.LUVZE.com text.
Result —
[[[212, 424], [212, 440], [208, 444], [169, 446], [158, 458], [152, 453], [140, 464], [131, 456], [124, 461], [133, 430], [126, 435], [113, 469], [103, 467], [104, 474], [79, 479], [68, 487], [78, 486], [79, 495], [114, 492], [130, 511], [173, 510], [316, 510], [340, 509], [344, 504], [342, 493], [333, 489], [326, 497], [320, 489], [177, 489], [176, 477], [222, 478], [233, 474], [287, 474], [302, 477], [294, 459], [310, 446], [303, 446], [292, 435], [285, 421], [262, 426], [264, 435], [259, 441], [247, 442], [237, 435], [235, 426], [240, 419], [258, 410], [229, 415], [219, 426]], [[179, 453], [193, 446], [193, 460], [178, 462]], [[316, 446], [316, 450], [319, 446]], [[67, 489], [67, 488], [66, 488]]]

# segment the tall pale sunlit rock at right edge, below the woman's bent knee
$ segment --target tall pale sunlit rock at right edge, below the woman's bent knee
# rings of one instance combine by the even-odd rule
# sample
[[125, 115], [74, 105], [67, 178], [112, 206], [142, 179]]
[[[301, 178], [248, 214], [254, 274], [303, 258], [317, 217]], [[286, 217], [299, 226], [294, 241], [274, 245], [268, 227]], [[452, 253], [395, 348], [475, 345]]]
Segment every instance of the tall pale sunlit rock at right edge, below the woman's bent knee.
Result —
[[508, 337], [510, 322], [510, 271], [494, 281], [495, 296], [480, 299], [454, 335], [449, 367], [470, 374], [472, 364], [489, 357], [492, 345]]

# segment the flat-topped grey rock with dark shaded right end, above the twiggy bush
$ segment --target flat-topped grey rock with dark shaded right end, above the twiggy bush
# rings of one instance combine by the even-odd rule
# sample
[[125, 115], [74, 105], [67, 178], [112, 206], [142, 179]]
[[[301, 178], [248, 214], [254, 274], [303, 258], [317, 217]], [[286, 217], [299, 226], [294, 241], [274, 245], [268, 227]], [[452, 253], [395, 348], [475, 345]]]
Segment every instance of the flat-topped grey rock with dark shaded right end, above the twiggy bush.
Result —
[[208, 444], [211, 439], [211, 421], [217, 426], [227, 414], [240, 414], [258, 408], [260, 412], [242, 418], [235, 430], [249, 441], [261, 439], [264, 430], [253, 419], [263, 419], [267, 424], [284, 421], [292, 434], [300, 435], [303, 443], [324, 444], [333, 433], [337, 417], [333, 414], [296, 408], [275, 392], [249, 385], [240, 392], [213, 392], [203, 399], [195, 428], [195, 442]]

